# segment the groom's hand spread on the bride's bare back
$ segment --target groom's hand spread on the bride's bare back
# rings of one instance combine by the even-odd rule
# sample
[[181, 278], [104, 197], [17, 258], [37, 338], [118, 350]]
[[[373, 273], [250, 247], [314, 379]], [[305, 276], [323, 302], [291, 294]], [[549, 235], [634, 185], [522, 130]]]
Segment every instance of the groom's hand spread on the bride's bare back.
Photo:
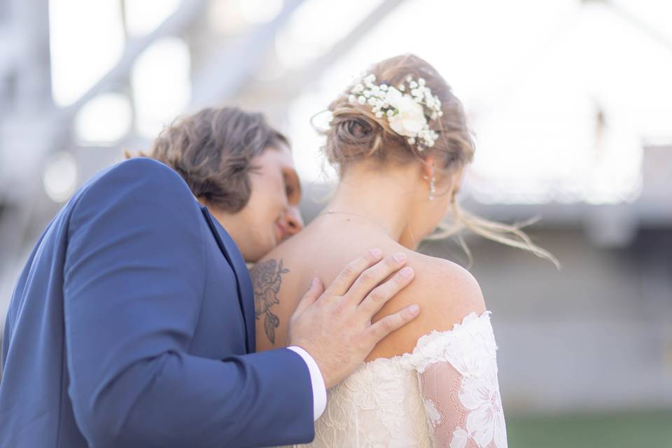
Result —
[[419, 313], [412, 304], [371, 323], [374, 314], [414, 276], [410, 267], [401, 269], [406, 262], [403, 253], [381, 258], [379, 249], [368, 251], [349, 263], [326, 290], [315, 279], [290, 319], [289, 345], [310, 353], [327, 388], [354, 372], [380, 339]]

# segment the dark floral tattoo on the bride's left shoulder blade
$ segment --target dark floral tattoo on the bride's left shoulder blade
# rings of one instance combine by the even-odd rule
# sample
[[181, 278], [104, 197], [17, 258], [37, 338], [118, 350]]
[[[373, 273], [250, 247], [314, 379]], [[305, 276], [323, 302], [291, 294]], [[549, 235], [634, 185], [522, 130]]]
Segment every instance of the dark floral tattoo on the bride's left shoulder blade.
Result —
[[257, 320], [263, 316], [264, 330], [272, 344], [275, 344], [275, 329], [280, 326], [280, 318], [273, 314], [271, 307], [280, 303], [278, 291], [282, 284], [282, 274], [287, 272], [289, 269], [282, 267], [282, 258], [280, 261], [272, 258], [259, 262], [250, 269], [254, 289], [254, 316]]

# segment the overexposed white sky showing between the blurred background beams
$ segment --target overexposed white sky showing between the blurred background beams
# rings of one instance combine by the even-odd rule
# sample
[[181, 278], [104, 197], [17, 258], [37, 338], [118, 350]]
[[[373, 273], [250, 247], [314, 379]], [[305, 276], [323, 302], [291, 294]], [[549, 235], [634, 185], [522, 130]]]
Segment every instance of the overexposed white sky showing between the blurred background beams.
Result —
[[[304, 66], [380, 2], [305, 1], [277, 38], [281, 64]], [[50, 0], [58, 104], [75, 101], [118, 60], [124, 45], [119, 3]], [[127, 0], [130, 34], [146, 34], [178, 4]], [[402, 3], [288, 105], [288, 131], [302, 177], [313, 181], [321, 175], [321, 141], [310, 116], [372, 62], [415, 52], [437, 67], [468, 111], [477, 155], [465, 187], [477, 200], [633, 199], [640, 187], [641, 142], [672, 137], [672, 31], [666, 20], [672, 3], [615, 4], [668, 45], [598, 2]], [[238, 17], [257, 24], [270, 20], [281, 5], [281, 0], [214, 0], [211, 14], [219, 11], [214, 17], [222, 19], [212, 22], [227, 27]], [[156, 43], [139, 59], [132, 72], [132, 101], [141, 134], [154, 135], [188, 103], [189, 73], [188, 46], [178, 38]], [[94, 102], [78, 118], [80, 138], [113, 142], [122, 137], [130, 127], [128, 97], [118, 92]], [[600, 138], [598, 111], [605, 118]]]

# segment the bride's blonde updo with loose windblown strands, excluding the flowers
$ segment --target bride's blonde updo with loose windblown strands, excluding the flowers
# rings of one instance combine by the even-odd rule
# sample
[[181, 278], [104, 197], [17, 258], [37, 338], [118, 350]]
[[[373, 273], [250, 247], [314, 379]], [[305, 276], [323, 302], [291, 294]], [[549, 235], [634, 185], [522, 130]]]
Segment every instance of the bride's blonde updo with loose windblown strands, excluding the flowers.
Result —
[[[439, 168], [446, 174], [452, 174], [472, 162], [475, 146], [466, 123], [463, 106], [433, 66], [416, 55], [401, 55], [374, 64], [367, 73], [375, 75], [377, 83], [386, 85], [400, 85], [408, 76], [414, 79], [423, 78], [427, 87], [441, 101], [442, 116], [430, 121], [430, 127], [438, 133], [438, 139], [431, 148], [421, 149], [417, 145], [409, 144], [406, 137], [391, 129], [385, 116], [378, 118], [372, 112], [371, 106], [349, 101], [353, 87], [351, 85], [328, 106], [328, 110], [332, 113], [329, 127], [318, 130], [326, 137], [323, 151], [340, 175], [344, 174], [353, 162], [364, 159], [377, 160], [381, 163], [388, 161], [408, 163], [434, 155], [435, 160], [441, 164]], [[514, 224], [491, 221], [462, 209], [456, 194], [451, 197], [450, 209], [454, 223], [442, 224], [439, 232], [430, 239], [455, 235], [467, 253], [470, 265], [472, 255], [460, 235], [463, 229], [507, 246], [530, 251], [540, 258], [550, 260], [560, 268], [559, 261], [552, 253], [534, 244], [521, 230], [538, 218]]]

